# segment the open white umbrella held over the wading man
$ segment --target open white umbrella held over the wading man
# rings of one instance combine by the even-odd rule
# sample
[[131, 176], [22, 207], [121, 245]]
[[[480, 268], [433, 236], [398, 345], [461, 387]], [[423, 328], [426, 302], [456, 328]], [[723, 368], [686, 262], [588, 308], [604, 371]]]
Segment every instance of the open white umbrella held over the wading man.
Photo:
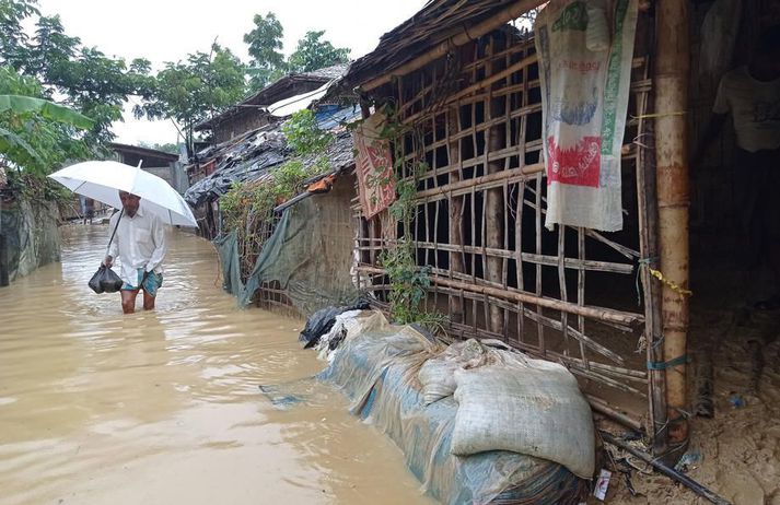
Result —
[[159, 215], [163, 222], [197, 226], [184, 198], [164, 179], [140, 167], [112, 161], [93, 161], [70, 165], [49, 175], [71, 191], [121, 209], [119, 191], [141, 197], [141, 208]]

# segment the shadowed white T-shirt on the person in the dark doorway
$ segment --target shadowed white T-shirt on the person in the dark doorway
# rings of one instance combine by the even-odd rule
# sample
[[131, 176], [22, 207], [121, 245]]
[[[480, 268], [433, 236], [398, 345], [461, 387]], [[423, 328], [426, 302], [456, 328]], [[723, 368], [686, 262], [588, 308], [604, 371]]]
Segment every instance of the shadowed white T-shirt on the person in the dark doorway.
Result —
[[780, 79], [757, 81], [747, 67], [734, 69], [721, 79], [712, 111], [731, 113], [736, 143], [745, 151], [780, 148]]

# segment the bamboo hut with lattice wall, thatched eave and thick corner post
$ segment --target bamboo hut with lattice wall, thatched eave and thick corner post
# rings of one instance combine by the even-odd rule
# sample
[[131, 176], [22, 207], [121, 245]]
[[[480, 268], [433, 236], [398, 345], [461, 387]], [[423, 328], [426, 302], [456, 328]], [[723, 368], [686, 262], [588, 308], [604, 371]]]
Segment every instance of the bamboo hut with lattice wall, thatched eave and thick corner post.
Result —
[[446, 314], [451, 337], [501, 339], [566, 364], [596, 413], [678, 457], [688, 437], [688, 5], [639, 5], [625, 225], [602, 233], [544, 226], [539, 66], [523, 22], [540, 3], [429, 2], [342, 79], [365, 118], [387, 106], [396, 115], [398, 184], [416, 189], [406, 227], [352, 200], [360, 282], [387, 308], [382, 251], [412, 240], [431, 272], [426, 310]]

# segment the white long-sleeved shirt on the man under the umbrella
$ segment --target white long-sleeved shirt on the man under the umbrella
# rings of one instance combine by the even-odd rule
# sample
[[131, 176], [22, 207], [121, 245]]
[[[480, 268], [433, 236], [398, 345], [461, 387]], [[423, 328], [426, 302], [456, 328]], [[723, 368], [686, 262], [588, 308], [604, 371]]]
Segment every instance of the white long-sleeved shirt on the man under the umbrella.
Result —
[[[109, 230], [114, 232], [119, 212], [112, 215]], [[116, 230], [108, 255], [116, 260], [120, 258], [119, 277], [130, 285], [138, 285], [138, 269], [162, 273], [162, 261], [167, 252], [165, 226], [155, 214], [143, 211], [143, 204], [130, 218], [121, 216]]]

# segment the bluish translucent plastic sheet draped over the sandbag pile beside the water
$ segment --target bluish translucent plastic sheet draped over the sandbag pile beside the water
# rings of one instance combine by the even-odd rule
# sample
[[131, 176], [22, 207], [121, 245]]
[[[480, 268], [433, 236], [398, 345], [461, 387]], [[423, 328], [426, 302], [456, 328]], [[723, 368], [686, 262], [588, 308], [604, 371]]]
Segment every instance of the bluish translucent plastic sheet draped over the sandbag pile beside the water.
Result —
[[446, 397], [426, 406], [417, 380], [422, 363], [442, 347], [379, 313], [358, 320], [318, 377], [341, 388], [351, 412], [399, 446], [427, 493], [446, 504], [579, 502], [585, 481], [561, 465], [500, 450], [453, 456], [457, 403]]

